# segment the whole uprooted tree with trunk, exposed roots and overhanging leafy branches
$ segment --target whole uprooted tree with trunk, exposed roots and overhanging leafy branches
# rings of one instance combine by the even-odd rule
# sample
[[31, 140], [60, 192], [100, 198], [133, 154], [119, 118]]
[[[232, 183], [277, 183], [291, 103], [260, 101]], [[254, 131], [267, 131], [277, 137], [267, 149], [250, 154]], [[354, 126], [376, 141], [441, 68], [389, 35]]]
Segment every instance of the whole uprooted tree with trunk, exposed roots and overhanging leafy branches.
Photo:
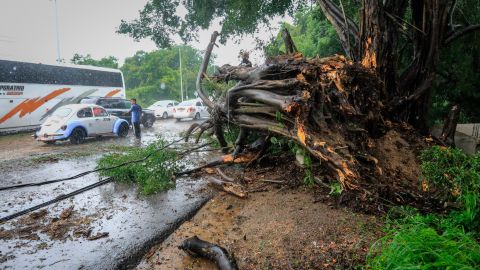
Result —
[[[267, 22], [307, 1], [235, 2], [184, 1], [188, 14], [181, 19], [171, 12], [178, 1], [151, 1], [140, 20], [122, 22], [120, 32], [137, 39], [152, 36], [164, 46], [169, 33], [180, 33], [188, 40], [194, 30], [207, 28], [213, 18], [221, 17], [221, 41], [225, 41], [231, 34], [253, 32], [258, 22]], [[270, 133], [287, 137], [318, 158], [346, 189], [358, 188], [357, 180], [365, 168], [381, 174], [378, 160], [369, 154], [371, 140], [382, 135], [390, 121], [426, 129], [430, 88], [441, 49], [479, 30], [480, 25], [455, 21], [457, 1], [345, 2], [359, 7], [357, 19], [348, 16], [342, 1], [316, 1], [336, 30], [346, 57], [305, 59], [295, 52], [285, 33], [286, 55], [268, 59], [259, 67], [221, 67], [210, 79], [237, 84], [216, 102], [201, 89], [218, 36], [214, 33], [197, 78], [198, 94], [212, 111], [212, 119], [200, 125], [200, 132], [212, 129], [225, 146], [223, 126], [240, 126], [235, 155], [243, 151], [249, 132], [264, 139]], [[410, 62], [401, 66], [400, 59]]]

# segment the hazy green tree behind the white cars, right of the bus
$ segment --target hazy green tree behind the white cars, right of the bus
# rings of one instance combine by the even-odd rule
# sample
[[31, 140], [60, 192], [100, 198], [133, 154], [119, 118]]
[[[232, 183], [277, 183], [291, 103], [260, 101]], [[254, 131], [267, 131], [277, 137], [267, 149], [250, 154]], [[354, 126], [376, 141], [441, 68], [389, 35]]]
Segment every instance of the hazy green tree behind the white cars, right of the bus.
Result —
[[125, 77], [127, 97], [135, 97], [143, 106], [160, 99], [180, 100], [180, 55], [184, 97], [194, 98], [201, 53], [190, 46], [174, 46], [153, 52], [138, 51], [125, 59], [121, 67]]

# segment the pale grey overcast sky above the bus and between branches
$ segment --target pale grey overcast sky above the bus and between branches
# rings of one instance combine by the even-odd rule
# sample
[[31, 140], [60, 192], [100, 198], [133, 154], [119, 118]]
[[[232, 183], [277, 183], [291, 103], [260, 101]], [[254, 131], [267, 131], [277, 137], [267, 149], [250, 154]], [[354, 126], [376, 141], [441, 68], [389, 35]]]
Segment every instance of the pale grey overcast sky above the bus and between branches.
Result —
[[[115, 31], [122, 19], [127, 21], [138, 17], [138, 11], [147, 0], [57, 0], [60, 52], [67, 61], [75, 53], [91, 54], [93, 58], [113, 55], [123, 63], [125, 57], [136, 51], [156, 49], [151, 40], [135, 42], [126, 35]], [[55, 63], [57, 45], [55, 36], [55, 9], [52, 0], [0, 0], [0, 59], [28, 61], [35, 63]], [[281, 19], [275, 20], [278, 25]], [[205, 49], [213, 30], [200, 33], [199, 42], [190, 45]], [[276, 32], [263, 31], [263, 39]], [[240, 49], [253, 50], [252, 37], [240, 44], [227, 43], [215, 48], [218, 56], [216, 64], [238, 64]], [[260, 64], [259, 52], [252, 56], [254, 63]]]

